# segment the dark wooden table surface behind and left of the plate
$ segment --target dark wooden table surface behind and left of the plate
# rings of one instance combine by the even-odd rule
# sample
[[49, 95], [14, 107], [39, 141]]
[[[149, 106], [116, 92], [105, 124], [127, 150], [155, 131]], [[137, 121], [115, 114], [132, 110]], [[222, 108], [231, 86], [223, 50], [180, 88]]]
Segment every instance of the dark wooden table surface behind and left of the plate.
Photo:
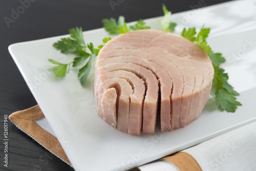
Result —
[[[221, 0], [124, 1], [124, 0], [1, 0], [0, 1], [0, 170], [73, 170], [44, 147], [8, 122], [8, 167], [4, 167], [4, 115], [27, 109], [36, 101], [8, 52], [21, 41], [102, 27], [101, 19], [124, 15], [126, 22], [163, 15], [164, 3], [173, 13], [210, 6]], [[112, 5], [110, 5], [110, 3]], [[23, 7], [22, 7], [23, 6]], [[15, 12], [19, 12], [15, 14]], [[8, 19], [9, 18], [9, 19]]]

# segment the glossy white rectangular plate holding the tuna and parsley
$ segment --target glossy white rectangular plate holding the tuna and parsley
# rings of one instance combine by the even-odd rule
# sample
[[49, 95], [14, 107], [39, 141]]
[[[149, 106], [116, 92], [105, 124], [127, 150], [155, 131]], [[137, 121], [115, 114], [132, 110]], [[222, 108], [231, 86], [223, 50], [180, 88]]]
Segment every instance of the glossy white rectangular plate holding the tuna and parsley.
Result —
[[[159, 9], [161, 10], [161, 9]], [[152, 29], [160, 28], [162, 17], [146, 19]], [[93, 71], [81, 87], [77, 70], [66, 78], [55, 78], [49, 58], [69, 62], [71, 56], [53, 48], [61, 37], [13, 44], [9, 51], [42, 112], [52, 126], [76, 170], [125, 170], [181, 151], [256, 120], [256, 2], [234, 1], [172, 15], [176, 33], [185, 27], [211, 28], [208, 42], [227, 61], [231, 85], [242, 102], [236, 113], [220, 112], [211, 100], [199, 119], [172, 132], [132, 136], [114, 129], [96, 113]], [[109, 37], [103, 29], [83, 33], [95, 46]]]

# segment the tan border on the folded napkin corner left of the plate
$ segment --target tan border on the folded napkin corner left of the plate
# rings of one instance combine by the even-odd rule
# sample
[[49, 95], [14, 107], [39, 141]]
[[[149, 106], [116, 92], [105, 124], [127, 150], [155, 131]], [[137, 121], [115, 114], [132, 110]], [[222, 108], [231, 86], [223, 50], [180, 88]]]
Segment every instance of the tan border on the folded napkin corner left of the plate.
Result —
[[23, 111], [14, 112], [9, 116], [10, 120], [20, 129], [31, 137], [34, 137], [53, 154], [71, 164], [58, 139], [36, 123], [37, 120], [44, 117], [45, 115], [42, 113], [39, 105]]

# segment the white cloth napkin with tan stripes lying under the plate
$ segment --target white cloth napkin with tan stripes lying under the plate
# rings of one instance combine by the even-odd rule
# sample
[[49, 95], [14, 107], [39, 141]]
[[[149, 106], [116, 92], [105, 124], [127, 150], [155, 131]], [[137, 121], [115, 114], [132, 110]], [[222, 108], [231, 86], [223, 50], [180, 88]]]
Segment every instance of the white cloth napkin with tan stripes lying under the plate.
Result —
[[[23, 132], [70, 166], [54, 131], [38, 105], [9, 116]], [[130, 171], [256, 170], [256, 122]]]

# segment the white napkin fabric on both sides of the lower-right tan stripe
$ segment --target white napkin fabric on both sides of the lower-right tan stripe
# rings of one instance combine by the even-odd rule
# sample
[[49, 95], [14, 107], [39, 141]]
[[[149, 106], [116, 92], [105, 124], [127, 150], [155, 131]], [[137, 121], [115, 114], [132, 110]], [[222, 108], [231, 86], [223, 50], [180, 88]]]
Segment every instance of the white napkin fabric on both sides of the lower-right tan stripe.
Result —
[[[256, 122], [187, 148], [204, 171], [256, 170]], [[141, 171], [177, 171], [172, 163], [158, 160], [138, 167]], [[162, 169], [164, 168], [164, 169]]]

